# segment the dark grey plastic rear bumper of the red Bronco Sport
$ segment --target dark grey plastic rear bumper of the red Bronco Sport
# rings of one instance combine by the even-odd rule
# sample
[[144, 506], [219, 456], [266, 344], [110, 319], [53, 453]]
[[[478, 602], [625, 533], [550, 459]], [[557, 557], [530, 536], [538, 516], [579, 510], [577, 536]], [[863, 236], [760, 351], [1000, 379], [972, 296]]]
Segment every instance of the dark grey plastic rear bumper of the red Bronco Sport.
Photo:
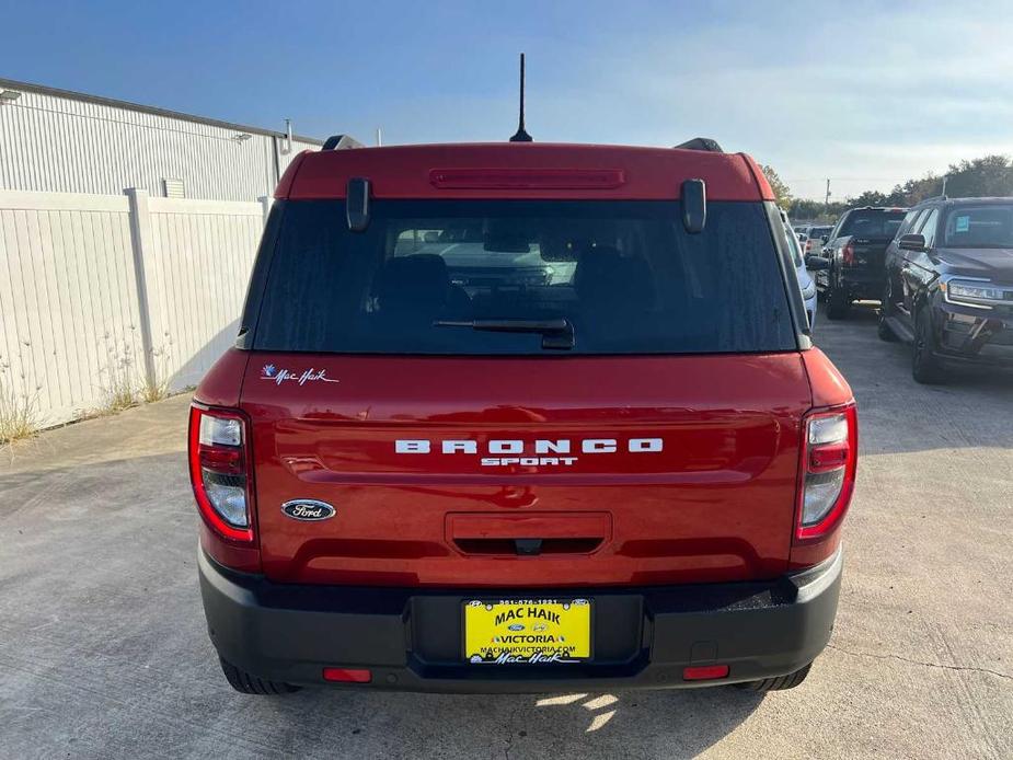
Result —
[[[523, 693], [713, 686], [797, 670], [830, 638], [843, 557], [838, 551], [772, 581], [582, 588], [595, 604], [594, 663], [504, 667], [461, 659], [461, 606], [474, 591], [275, 584], [228, 571], [203, 551], [198, 565], [219, 655], [261, 678], [324, 684], [325, 667], [367, 668], [371, 682], [355, 688]], [[566, 594], [574, 589], [555, 596]], [[683, 680], [683, 668], [710, 664], [728, 665], [728, 677]]]

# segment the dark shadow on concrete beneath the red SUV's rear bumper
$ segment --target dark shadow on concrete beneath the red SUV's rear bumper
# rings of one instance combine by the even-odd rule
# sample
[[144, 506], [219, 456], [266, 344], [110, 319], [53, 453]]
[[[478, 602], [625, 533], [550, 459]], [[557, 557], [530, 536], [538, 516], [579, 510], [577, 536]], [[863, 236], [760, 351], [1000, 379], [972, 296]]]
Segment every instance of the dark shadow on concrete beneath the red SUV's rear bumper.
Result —
[[[304, 690], [266, 703], [296, 756], [694, 757], [762, 702], [732, 687], [554, 695], [435, 695]], [[304, 716], [314, 716], [307, 730]]]

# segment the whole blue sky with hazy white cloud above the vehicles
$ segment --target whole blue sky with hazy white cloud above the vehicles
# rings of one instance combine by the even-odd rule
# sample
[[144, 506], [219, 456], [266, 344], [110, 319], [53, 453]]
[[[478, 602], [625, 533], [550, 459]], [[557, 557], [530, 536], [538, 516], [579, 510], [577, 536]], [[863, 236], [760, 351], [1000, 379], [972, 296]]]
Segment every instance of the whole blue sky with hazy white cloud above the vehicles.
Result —
[[1013, 153], [1013, 3], [0, 0], [0, 77], [301, 134], [704, 135], [796, 195]]

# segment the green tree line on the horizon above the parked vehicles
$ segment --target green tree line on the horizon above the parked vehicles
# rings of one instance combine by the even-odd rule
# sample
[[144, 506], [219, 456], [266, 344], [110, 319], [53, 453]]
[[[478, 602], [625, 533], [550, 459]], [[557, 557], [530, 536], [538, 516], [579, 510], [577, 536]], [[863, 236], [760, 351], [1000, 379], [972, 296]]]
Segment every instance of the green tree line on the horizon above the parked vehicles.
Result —
[[819, 200], [792, 197], [787, 184], [778, 176], [772, 166], [763, 166], [763, 173], [778, 199], [778, 205], [792, 219], [832, 221], [843, 211], [855, 206], [913, 206], [920, 200], [943, 194], [951, 198], [982, 198], [1013, 196], [1013, 161], [1006, 156], [985, 156], [980, 159], [949, 164], [945, 174], [926, 173], [918, 180], [908, 180], [894, 185], [889, 193], [865, 191], [855, 196], [829, 204]]

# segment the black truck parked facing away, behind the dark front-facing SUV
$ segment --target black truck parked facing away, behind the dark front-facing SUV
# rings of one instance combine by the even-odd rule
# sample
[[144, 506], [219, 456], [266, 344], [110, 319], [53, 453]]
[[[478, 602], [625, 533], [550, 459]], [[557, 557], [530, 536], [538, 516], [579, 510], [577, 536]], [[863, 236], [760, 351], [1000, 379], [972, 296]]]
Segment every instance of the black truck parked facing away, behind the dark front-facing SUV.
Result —
[[852, 208], [845, 211], [813, 261], [816, 288], [827, 302], [827, 316], [842, 320], [854, 301], [883, 295], [886, 246], [889, 245], [907, 209]]

